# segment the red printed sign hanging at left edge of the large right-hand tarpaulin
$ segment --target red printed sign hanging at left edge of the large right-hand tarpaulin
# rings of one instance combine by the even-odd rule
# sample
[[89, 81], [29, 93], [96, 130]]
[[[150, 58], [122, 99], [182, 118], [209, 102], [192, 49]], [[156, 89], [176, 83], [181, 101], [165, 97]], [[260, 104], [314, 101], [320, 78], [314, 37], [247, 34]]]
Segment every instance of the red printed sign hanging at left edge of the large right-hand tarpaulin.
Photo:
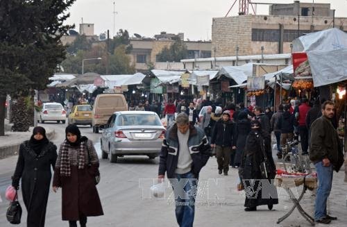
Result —
[[310, 62], [305, 52], [291, 53], [293, 58], [294, 77], [312, 76]]

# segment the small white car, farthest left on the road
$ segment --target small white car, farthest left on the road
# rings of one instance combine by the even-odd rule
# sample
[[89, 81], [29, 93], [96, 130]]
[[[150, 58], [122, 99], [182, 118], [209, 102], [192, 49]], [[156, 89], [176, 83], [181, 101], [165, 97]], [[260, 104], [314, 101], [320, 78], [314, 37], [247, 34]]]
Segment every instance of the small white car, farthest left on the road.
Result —
[[66, 111], [60, 103], [43, 103], [37, 119], [42, 124], [44, 121], [57, 121], [57, 123], [62, 121], [62, 124], [65, 124]]

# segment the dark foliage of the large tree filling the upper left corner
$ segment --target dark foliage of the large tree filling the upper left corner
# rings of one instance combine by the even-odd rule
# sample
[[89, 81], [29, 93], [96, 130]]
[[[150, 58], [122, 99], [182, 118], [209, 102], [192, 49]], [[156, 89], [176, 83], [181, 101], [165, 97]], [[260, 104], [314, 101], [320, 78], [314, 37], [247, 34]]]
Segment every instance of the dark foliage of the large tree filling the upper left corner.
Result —
[[6, 94], [16, 98], [43, 90], [65, 58], [60, 38], [72, 28], [63, 23], [74, 1], [0, 1], [0, 135]]

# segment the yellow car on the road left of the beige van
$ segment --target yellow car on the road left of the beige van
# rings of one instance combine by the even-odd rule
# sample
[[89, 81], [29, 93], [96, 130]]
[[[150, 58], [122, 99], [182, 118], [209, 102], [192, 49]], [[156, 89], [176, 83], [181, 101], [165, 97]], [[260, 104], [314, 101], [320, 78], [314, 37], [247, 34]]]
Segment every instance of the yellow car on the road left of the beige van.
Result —
[[81, 124], [92, 126], [92, 110], [93, 106], [88, 104], [76, 105], [72, 108], [67, 124]]

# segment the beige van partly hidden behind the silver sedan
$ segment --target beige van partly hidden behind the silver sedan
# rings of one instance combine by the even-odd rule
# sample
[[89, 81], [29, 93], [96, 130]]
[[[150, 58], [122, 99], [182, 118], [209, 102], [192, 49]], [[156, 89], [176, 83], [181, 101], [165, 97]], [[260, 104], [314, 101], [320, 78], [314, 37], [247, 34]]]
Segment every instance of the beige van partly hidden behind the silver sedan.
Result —
[[93, 133], [99, 133], [99, 128], [107, 123], [114, 112], [126, 111], [128, 106], [123, 94], [99, 94], [93, 106]]

